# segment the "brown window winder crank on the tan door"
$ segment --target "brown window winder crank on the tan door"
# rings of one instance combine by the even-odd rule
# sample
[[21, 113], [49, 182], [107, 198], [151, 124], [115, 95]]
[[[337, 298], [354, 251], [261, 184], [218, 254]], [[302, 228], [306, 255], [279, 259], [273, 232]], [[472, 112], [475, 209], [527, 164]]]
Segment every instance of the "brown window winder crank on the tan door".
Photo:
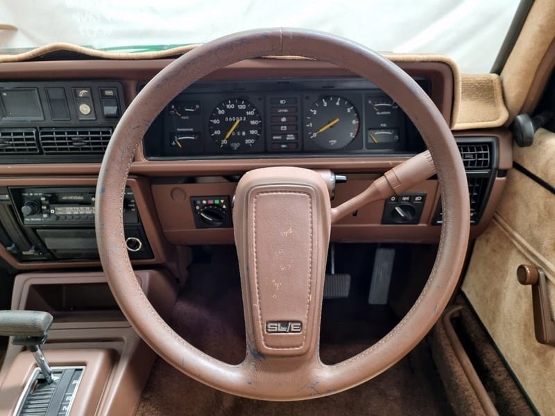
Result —
[[516, 270], [520, 284], [532, 286], [533, 326], [538, 343], [555, 345], [555, 321], [549, 307], [547, 279], [543, 269], [521, 264]]

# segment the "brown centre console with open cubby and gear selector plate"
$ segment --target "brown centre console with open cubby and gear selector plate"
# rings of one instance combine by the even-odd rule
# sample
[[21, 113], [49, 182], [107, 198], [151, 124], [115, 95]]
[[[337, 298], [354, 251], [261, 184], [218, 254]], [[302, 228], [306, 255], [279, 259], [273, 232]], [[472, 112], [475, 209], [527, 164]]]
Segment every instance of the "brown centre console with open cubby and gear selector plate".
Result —
[[[137, 282], [163, 319], [176, 299], [165, 272], [137, 270]], [[0, 413], [7, 415], [134, 415], [155, 353], [117, 306], [103, 272], [25, 273], [15, 278], [12, 311], [53, 316], [42, 346], [51, 365], [50, 397], [33, 354], [10, 344], [0, 370]], [[44, 399], [49, 398], [46, 413]], [[59, 405], [59, 406], [58, 406]], [[20, 413], [15, 413], [19, 409]]]

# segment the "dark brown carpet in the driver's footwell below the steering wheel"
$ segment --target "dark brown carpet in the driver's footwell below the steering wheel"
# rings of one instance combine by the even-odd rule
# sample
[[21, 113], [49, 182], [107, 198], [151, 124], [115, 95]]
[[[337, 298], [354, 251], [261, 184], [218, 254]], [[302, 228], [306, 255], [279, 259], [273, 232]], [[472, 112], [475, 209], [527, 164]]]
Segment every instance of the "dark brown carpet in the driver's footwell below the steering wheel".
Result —
[[[171, 318], [183, 338], [228, 363], [245, 355], [244, 320], [234, 251], [214, 249], [189, 268]], [[210, 261], [209, 261], [210, 260]], [[353, 276], [354, 287], [357, 277]], [[381, 338], [398, 318], [387, 306], [359, 302], [367, 293], [323, 306], [321, 356], [341, 361]], [[338, 325], [339, 324], [339, 325]], [[341, 328], [337, 331], [337, 328]], [[347, 392], [296, 402], [244, 399], [219, 392], [156, 361], [137, 415], [451, 415], [427, 343], [375, 379]]]

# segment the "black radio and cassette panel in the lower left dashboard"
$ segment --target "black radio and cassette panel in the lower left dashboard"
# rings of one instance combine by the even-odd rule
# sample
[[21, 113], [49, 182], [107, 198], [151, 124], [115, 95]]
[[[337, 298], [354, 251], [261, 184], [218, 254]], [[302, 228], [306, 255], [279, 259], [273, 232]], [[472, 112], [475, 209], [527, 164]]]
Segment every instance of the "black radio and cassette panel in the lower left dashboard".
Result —
[[[94, 187], [2, 188], [0, 243], [19, 261], [98, 259], [94, 202]], [[130, 259], [153, 258], [130, 188], [123, 231]]]

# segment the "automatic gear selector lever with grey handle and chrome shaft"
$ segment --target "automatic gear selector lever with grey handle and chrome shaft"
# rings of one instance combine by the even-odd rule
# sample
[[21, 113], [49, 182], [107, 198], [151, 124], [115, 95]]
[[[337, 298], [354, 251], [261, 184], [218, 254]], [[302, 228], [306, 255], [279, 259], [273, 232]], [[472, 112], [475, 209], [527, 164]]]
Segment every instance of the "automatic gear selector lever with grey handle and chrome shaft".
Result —
[[50, 313], [42, 311], [0, 311], [0, 335], [13, 337], [14, 345], [26, 346], [49, 384], [54, 381], [52, 369], [40, 346], [46, 342], [52, 319]]

